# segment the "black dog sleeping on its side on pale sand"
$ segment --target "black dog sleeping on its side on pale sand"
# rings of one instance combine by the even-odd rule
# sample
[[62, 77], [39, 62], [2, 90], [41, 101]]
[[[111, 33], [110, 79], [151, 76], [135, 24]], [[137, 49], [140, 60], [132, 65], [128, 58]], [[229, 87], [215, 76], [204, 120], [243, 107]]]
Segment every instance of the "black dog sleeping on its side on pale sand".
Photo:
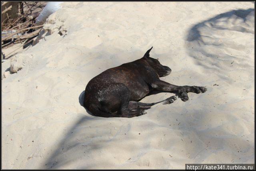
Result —
[[[96, 116], [131, 118], [160, 103], [138, 102], [152, 90], [176, 93], [183, 101], [188, 100], [188, 92], [207, 90], [202, 86], [176, 86], [161, 81], [159, 77], [169, 75], [172, 70], [149, 57], [151, 49], [141, 59], [110, 68], [90, 80], [85, 88], [84, 106]], [[170, 104], [174, 100], [176, 96], [161, 102]]]

